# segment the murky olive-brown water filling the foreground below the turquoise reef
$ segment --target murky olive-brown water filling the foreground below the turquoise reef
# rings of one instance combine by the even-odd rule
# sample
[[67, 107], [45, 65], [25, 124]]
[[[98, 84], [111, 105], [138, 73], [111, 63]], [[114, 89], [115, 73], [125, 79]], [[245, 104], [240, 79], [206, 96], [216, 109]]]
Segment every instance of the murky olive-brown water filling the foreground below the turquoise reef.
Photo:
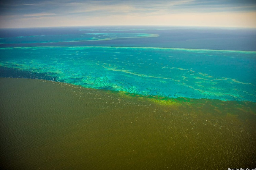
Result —
[[4, 169], [255, 168], [256, 104], [0, 78]]

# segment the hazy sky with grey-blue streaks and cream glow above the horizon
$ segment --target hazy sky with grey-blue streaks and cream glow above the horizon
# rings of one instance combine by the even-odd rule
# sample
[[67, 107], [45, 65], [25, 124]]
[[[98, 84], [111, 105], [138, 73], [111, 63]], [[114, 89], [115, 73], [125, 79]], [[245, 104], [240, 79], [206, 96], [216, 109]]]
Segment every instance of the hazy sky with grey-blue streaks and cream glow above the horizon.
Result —
[[256, 27], [256, 0], [2, 0], [0, 28]]

